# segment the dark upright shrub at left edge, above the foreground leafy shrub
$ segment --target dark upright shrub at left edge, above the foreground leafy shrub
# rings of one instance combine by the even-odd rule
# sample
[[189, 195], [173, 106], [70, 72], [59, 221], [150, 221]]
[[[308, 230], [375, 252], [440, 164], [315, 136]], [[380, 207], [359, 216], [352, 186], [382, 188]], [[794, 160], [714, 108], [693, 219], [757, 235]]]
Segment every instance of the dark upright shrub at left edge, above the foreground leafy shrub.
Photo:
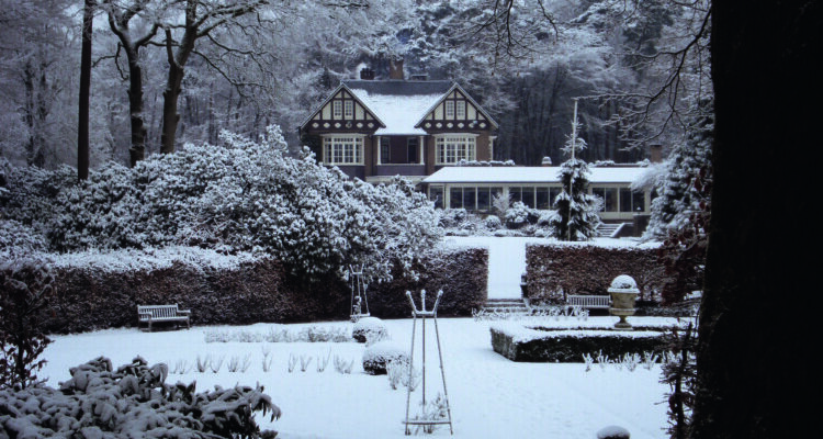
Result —
[[50, 261], [37, 256], [0, 261], [0, 389], [37, 382], [52, 341], [43, 322], [53, 291]]

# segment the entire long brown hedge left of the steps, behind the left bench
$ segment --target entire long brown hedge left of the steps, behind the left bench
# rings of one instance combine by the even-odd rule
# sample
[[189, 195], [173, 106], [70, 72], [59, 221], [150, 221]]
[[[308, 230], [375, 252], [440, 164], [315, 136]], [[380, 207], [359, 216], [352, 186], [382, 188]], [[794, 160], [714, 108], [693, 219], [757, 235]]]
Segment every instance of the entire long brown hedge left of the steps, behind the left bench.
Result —
[[[487, 251], [461, 249], [425, 257], [418, 279], [402, 277], [369, 289], [372, 315], [410, 315], [406, 290], [443, 289], [441, 315], [471, 315], [486, 297]], [[313, 284], [288, 275], [272, 259], [244, 260], [232, 267], [172, 260], [159, 268], [106, 269], [94, 263], [58, 266], [55, 292], [44, 318], [50, 333], [77, 333], [137, 326], [138, 304], [170, 304], [192, 311], [192, 324], [251, 324], [347, 319], [351, 291], [335, 277]], [[433, 303], [433, 294], [431, 302]], [[430, 304], [428, 306], [431, 306]]]

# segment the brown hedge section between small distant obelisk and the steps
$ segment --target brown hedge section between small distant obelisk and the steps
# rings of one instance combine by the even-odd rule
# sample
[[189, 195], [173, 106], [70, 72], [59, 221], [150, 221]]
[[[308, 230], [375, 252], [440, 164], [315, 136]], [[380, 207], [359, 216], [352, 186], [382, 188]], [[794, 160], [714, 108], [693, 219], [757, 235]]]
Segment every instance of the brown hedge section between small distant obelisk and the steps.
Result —
[[426, 309], [435, 306], [437, 292], [443, 290], [438, 316], [471, 316], [486, 303], [488, 282], [488, 250], [485, 248], [450, 249], [427, 255], [415, 263], [418, 278], [403, 277], [395, 267], [394, 281], [369, 285], [369, 311], [380, 318], [410, 317], [412, 305], [406, 291], [412, 292], [420, 308], [420, 290], [426, 290]]

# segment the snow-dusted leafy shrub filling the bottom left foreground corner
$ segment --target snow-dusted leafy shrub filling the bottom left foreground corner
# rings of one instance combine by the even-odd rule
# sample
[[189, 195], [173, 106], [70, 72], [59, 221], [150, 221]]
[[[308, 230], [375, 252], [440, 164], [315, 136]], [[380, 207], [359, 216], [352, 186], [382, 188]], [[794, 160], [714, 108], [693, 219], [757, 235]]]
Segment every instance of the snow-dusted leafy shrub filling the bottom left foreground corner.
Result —
[[0, 391], [0, 437], [274, 438], [261, 431], [255, 414], [280, 417], [263, 387], [166, 384], [166, 364], [148, 367], [142, 358], [116, 371], [98, 358], [71, 368], [60, 389], [32, 386]]

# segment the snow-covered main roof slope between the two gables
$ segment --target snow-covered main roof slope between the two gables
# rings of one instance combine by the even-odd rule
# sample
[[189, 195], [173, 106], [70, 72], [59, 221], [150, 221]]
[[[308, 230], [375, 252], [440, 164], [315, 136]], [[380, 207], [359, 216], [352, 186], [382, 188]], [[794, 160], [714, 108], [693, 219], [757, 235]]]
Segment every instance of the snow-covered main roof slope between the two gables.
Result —
[[450, 81], [346, 81], [357, 97], [385, 127], [376, 135], [425, 135], [415, 123], [448, 92]]

